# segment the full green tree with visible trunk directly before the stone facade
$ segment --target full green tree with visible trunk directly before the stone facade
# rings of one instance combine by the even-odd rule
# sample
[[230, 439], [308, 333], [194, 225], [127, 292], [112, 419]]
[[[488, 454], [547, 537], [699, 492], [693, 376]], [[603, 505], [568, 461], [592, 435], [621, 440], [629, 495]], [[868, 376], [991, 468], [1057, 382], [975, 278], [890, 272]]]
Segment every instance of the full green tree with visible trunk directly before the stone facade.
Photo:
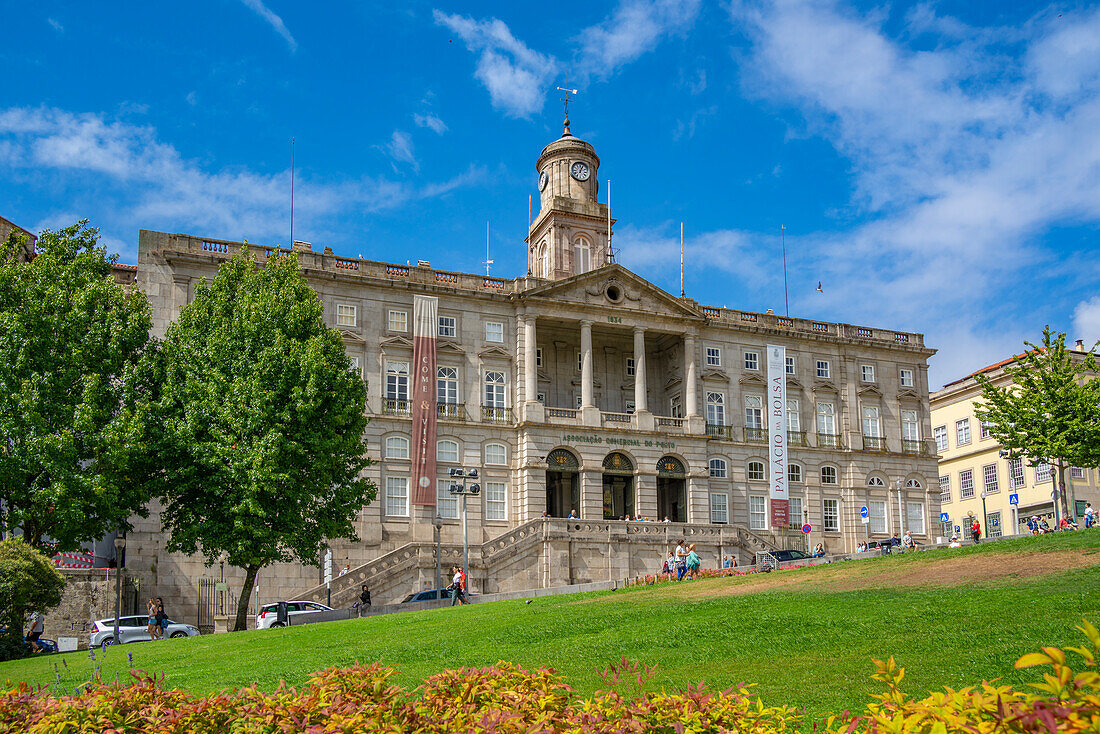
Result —
[[327, 538], [354, 539], [376, 494], [360, 476], [366, 386], [297, 258], [257, 269], [248, 249], [196, 288], [157, 365], [148, 426], [167, 547], [244, 570], [245, 629], [260, 569], [316, 563]]

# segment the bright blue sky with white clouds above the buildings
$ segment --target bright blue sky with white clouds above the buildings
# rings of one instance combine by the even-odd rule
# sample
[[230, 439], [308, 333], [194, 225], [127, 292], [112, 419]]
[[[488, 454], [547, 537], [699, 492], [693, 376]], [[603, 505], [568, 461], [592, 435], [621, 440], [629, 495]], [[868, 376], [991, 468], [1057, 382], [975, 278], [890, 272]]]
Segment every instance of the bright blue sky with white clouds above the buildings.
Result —
[[[0, 0], [0, 215], [526, 273], [573, 132], [620, 262], [708, 305], [922, 331], [933, 387], [1100, 339], [1100, 7]], [[536, 196], [537, 207], [537, 196]], [[823, 293], [816, 292], [818, 281]]]

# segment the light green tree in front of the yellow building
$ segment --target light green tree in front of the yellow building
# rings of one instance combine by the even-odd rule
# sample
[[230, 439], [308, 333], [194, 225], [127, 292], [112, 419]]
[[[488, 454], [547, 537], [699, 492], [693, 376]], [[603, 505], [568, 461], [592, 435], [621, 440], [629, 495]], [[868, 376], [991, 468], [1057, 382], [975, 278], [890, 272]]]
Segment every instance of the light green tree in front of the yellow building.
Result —
[[1096, 346], [1084, 355], [1067, 350], [1066, 335], [1049, 326], [1042, 344], [1024, 344], [1026, 351], [1004, 368], [1008, 384], [975, 377], [982, 387], [975, 413], [1010, 457], [1024, 457], [1032, 467], [1050, 464], [1068, 517], [1066, 467], [1100, 464], [1100, 381], [1091, 379]]

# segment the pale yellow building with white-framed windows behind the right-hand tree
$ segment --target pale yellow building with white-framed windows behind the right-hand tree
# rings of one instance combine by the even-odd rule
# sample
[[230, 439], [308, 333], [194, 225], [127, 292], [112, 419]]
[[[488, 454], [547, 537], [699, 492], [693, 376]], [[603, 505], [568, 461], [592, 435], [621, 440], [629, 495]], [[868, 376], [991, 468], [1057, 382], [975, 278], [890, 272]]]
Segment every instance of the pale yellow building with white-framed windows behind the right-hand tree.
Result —
[[[1077, 342], [1075, 353], [1085, 354]], [[989, 435], [975, 413], [985, 374], [996, 385], [1010, 382], [1004, 368], [1012, 360], [990, 364], [947, 383], [931, 395], [932, 436], [939, 454], [941, 521], [944, 537], [969, 537], [972, 517], [981, 523], [983, 537], [1028, 533], [1027, 518], [1037, 515], [1055, 527], [1054, 472], [1046, 464], [1030, 467], [1026, 459], [1001, 456], [1001, 446]], [[1071, 467], [1066, 470], [1070, 514], [1081, 518], [1086, 503], [1100, 508], [1100, 470]], [[1060, 503], [1059, 503], [1060, 505]], [[1060, 517], [1060, 506], [1057, 516]], [[1084, 527], [1084, 519], [1080, 519]]]

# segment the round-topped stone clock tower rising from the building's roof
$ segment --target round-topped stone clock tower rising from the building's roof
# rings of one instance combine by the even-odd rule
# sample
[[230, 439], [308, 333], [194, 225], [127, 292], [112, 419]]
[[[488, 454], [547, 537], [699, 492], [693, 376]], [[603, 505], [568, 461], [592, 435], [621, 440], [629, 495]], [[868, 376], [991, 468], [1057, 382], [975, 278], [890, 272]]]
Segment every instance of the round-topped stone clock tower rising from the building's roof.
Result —
[[535, 165], [539, 216], [527, 238], [531, 275], [560, 281], [610, 262], [607, 205], [596, 201], [600, 156], [569, 131], [542, 149]]

